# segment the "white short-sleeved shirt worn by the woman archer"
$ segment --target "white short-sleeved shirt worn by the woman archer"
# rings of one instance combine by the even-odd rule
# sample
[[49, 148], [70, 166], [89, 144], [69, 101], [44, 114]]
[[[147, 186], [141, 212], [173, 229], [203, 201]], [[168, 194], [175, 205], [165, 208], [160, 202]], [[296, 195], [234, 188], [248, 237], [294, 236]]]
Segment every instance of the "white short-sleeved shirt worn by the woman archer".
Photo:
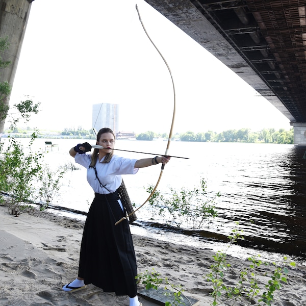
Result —
[[[136, 174], [139, 168], [134, 168], [136, 159], [127, 159], [113, 155], [109, 163], [101, 163], [99, 159], [96, 162], [97, 175], [100, 182], [107, 188], [101, 187], [96, 179], [95, 171], [89, 168], [91, 154], [79, 154], [74, 157], [75, 162], [87, 168], [87, 182], [93, 191], [100, 194], [108, 194], [116, 191], [121, 185], [121, 174]], [[101, 159], [101, 161], [103, 161]]]

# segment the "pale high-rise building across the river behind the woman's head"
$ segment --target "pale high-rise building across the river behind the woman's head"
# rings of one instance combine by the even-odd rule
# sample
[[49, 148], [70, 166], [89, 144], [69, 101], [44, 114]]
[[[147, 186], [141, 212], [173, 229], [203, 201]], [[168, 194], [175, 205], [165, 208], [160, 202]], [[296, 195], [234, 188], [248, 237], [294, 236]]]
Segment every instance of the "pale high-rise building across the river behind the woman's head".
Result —
[[114, 133], [119, 132], [119, 105], [110, 103], [94, 104], [92, 106], [92, 126], [99, 131], [109, 127]]

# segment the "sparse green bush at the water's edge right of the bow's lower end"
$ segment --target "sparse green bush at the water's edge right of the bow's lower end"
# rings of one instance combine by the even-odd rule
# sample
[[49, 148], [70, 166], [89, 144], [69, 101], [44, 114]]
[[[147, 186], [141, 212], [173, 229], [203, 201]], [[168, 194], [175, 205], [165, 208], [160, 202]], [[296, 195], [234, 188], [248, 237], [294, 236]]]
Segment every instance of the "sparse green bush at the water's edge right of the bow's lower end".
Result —
[[[149, 186], [146, 191], [151, 193], [153, 189], [153, 186]], [[201, 179], [200, 186], [193, 190], [182, 188], [177, 191], [169, 187], [167, 194], [156, 191], [149, 199], [152, 219], [158, 215], [171, 225], [187, 224], [192, 228], [199, 228], [205, 219], [217, 216], [214, 204], [220, 194], [218, 192], [214, 197], [208, 198], [206, 189], [206, 181]]]

